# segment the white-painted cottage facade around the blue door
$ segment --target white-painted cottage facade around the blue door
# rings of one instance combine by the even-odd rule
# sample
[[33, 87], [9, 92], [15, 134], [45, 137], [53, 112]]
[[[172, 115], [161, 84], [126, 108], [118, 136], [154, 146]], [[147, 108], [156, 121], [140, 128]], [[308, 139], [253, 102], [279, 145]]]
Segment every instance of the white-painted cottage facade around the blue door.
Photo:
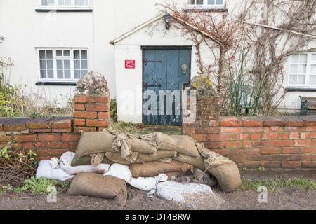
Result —
[[[229, 13], [238, 1], [179, 3], [187, 8], [197, 3]], [[183, 77], [189, 82], [199, 71], [194, 45], [178, 29], [171, 26], [166, 31], [164, 15], [156, 6], [161, 2], [0, 0], [0, 36], [6, 37], [0, 44], [0, 57], [14, 61], [11, 84], [26, 85], [27, 90], [65, 105], [67, 98], [73, 97], [77, 80], [88, 71], [98, 71], [107, 79], [112, 98], [117, 99], [119, 120], [142, 123], [144, 54], [150, 57], [156, 54], [154, 50], [173, 50], [171, 55], [178, 55], [174, 63], [187, 65]], [[315, 47], [316, 41], [308, 46]], [[213, 62], [206, 49], [202, 48], [204, 60]], [[186, 58], [180, 58], [185, 54]], [[293, 55], [284, 68], [284, 87], [295, 91], [287, 92], [280, 107], [299, 109], [299, 96], [316, 97], [316, 52]]]

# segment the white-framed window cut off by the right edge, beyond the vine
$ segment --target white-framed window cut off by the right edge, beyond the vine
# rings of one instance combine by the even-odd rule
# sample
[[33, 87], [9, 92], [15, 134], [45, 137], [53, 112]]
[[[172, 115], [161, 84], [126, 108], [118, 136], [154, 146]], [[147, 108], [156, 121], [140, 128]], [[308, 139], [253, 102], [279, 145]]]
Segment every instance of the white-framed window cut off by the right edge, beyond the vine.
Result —
[[289, 87], [316, 88], [316, 52], [291, 55]]

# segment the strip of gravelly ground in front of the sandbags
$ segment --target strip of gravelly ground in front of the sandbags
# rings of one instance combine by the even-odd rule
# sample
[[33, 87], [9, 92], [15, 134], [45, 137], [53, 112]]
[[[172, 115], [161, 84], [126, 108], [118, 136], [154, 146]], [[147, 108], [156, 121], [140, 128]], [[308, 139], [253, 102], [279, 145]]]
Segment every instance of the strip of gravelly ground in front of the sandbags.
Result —
[[124, 208], [112, 200], [94, 197], [58, 195], [57, 203], [46, 202], [46, 195], [32, 193], [0, 195], [0, 210], [216, 210], [216, 209], [308, 209], [316, 210], [314, 190], [282, 189], [268, 192], [268, 203], [258, 203], [255, 190], [222, 193], [213, 190], [213, 195], [191, 195], [187, 198], [191, 206], [171, 202], [159, 197], [147, 197], [147, 193], [129, 187], [129, 196]]

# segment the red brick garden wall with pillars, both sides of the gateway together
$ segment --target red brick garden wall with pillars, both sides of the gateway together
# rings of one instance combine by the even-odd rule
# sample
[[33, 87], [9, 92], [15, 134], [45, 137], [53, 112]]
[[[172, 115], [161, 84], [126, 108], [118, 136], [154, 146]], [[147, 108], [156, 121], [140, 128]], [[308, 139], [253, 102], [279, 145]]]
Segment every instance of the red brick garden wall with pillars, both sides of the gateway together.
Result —
[[[74, 97], [74, 118], [0, 118], [0, 147], [32, 149], [39, 160], [76, 151], [80, 130], [109, 125], [110, 97]], [[183, 134], [237, 162], [240, 168], [316, 168], [316, 116], [219, 117], [219, 98], [198, 98], [197, 119]]]

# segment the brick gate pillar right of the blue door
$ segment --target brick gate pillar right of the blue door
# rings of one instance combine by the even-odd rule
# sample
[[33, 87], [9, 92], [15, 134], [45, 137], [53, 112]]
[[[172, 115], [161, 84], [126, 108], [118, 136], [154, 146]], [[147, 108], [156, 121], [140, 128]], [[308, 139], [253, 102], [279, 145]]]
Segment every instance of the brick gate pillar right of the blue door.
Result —
[[[188, 103], [188, 109], [190, 109], [190, 102]], [[190, 110], [192, 111], [192, 109]], [[196, 111], [195, 121], [183, 123], [183, 134], [190, 135], [193, 139], [203, 142], [206, 148], [218, 148], [218, 143], [213, 142], [213, 139], [209, 136], [210, 134], [219, 133], [220, 98], [197, 97]]]

